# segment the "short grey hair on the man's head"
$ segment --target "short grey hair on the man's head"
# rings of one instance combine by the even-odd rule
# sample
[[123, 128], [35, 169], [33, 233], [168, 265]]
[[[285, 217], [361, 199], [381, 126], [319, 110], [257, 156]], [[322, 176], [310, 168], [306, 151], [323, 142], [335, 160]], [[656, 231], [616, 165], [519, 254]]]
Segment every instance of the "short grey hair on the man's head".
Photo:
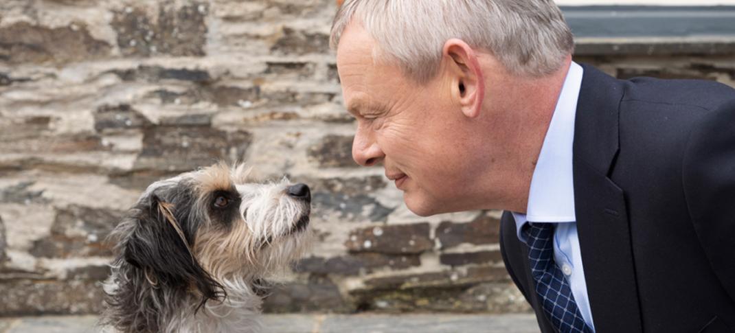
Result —
[[347, 0], [331, 26], [332, 49], [353, 19], [388, 55], [383, 60], [396, 62], [417, 82], [437, 74], [442, 47], [451, 38], [490, 51], [508, 71], [523, 76], [553, 73], [574, 49], [553, 0]]

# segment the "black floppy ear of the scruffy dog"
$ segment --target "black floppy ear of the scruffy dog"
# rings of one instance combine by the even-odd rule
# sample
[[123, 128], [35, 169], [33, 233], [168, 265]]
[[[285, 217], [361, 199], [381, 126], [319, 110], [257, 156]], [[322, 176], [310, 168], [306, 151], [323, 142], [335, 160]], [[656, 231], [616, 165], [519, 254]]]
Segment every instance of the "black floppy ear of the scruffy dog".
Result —
[[[152, 193], [147, 204], [140, 204], [135, 219], [137, 226], [126, 240], [123, 258], [130, 265], [139, 269], [153, 287], [174, 290], [190, 290], [191, 287], [201, 293], [203, 306], [207, 300], [221, 299], [224, 289], [212, 276], [204, 271], [193, 255], [190, 240], [193, 234], [187, 234], [191, 228], [182, 228], [174, 215], [174, 205], [162, 201]], [[182, 207], [189, 209], [189, 207]], [[197, 308], [198, 309], [198, 308]]]

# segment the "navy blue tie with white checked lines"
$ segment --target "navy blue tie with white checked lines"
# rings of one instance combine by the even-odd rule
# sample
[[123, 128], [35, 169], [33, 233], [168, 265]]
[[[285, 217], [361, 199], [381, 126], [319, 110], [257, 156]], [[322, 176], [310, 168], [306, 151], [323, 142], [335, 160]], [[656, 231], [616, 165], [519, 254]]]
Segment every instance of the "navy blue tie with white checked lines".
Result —
[[556, 223], [527, 223], [523, 228], [531, 260], [536, 293], [541, 296], [546, 318], [556, 332], [592, 333], [574, 301], [569, 282], [553, 259], [553, 233]]

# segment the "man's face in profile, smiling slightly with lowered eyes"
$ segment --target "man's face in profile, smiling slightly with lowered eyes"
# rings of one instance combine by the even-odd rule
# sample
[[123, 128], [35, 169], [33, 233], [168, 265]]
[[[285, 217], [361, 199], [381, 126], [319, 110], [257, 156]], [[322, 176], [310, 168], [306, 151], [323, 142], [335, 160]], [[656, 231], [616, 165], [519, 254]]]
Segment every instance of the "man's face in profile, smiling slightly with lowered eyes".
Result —
[[[345, 29], [337, 68], [348, 111], [357, 121], [354, 160], [383, 162], [386, 176], [404, 191], [418, 215], [477, 208], [473, 190], [492, 164], [470, 121], [441, 74], [423, 85], [395, 65], [373, 59], [376, 42], [359, 24]], [[487, 148], [487, 147], [485, 147]]]

